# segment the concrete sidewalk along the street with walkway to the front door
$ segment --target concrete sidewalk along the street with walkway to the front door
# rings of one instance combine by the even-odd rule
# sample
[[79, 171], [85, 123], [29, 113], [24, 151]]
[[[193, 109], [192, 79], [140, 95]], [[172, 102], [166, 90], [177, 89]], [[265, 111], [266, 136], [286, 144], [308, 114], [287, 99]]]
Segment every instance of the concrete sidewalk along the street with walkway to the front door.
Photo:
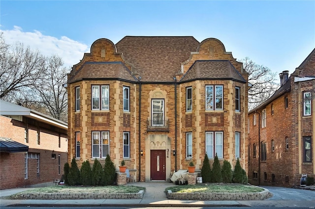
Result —
[[257, 200], [257, 201], [198, 201], [198, 200], [168, 200], [164, 190], [166, 187], [174, 185], [168, 182], [150, 183], [130, 183], [128, 185], [146, 187], [142, 199], [115, 200], [6, 200], [9, 196], [32, 188], [14, 188], [0, 190], [0, 208], [5, 206], [19, 207], [314, 207], [315, 200], [312, 201], [279, 201], [279, 200]]

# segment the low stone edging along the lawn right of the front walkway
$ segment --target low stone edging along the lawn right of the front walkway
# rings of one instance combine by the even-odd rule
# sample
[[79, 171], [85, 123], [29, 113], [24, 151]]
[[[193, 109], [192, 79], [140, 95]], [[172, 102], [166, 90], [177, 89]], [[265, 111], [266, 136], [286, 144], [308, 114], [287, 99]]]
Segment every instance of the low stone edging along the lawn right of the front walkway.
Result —
[[178, 193], [167, 190], [167, 198], [171, 200], [264, 200], [269, 190], [263, 188], [261, 192], [194, 192]]

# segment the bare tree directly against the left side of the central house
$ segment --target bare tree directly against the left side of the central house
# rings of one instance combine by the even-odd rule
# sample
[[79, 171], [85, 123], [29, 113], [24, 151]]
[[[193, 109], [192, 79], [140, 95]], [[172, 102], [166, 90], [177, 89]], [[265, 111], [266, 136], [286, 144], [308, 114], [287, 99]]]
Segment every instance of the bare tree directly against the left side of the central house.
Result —
[[47, 108], [49, 115], [62, 121], [67, 121], [67, 91], [63, 84], [67, 82], [67, 73], [70, 69], [63, 66], [63, 60], [58, 55], [48, 57], [45, 68], [41, 72], [35, 87], [35, 94]]

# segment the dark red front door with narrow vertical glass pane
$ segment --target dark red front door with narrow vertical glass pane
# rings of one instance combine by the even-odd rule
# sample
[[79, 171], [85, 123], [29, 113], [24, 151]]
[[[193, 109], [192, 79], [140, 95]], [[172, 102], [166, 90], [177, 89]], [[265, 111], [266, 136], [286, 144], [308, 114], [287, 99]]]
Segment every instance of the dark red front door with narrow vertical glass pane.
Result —
[[151, 181], [166, 180], [165, 150], [151, 150]]

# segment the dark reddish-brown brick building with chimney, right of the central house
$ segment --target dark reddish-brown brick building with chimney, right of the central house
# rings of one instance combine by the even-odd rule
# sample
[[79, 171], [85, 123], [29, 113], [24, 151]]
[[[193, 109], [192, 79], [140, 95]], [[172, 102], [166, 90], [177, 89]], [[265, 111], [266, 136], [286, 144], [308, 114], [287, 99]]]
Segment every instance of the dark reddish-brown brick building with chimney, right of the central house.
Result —
[[315, 49], [263, 104], [249, 112], [249, 182], [300, 185], [315, 176]]

